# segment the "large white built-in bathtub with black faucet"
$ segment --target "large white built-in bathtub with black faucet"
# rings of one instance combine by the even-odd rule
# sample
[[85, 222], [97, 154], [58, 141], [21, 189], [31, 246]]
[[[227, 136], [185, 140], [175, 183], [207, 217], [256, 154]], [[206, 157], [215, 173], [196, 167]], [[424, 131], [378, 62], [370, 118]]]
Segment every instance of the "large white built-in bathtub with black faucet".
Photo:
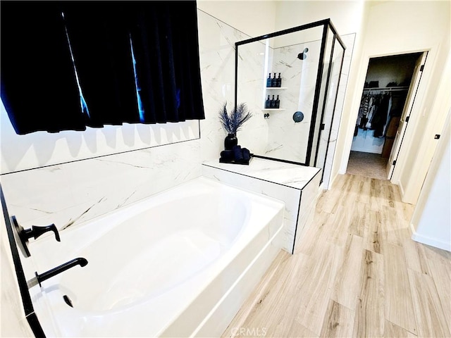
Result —
[[[280, 250], [284, 205], [199, 177], [30, 244], [48, 337], [215, 337]], [[67, 295], [73, 308], [63, 300]]]

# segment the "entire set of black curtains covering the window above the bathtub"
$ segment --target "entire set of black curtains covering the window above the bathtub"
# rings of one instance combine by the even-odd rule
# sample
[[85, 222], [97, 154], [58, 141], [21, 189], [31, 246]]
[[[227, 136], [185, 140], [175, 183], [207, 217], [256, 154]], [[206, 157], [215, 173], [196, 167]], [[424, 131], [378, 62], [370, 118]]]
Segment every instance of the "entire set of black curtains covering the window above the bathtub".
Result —
[[[85, 125], [101, 127], [123, 122], [166, 123], [204, 118], [195, 1], [23, 4], [1, 1], [1, 97], [18, 134], [35, 130], [83, 130]], [[10, 16], [11, 13], [14, 15]], [[30, 30], [34, 30], [33, 35], [29, 34]], [[43, 34], [42, 30], [50, 30], [52, 34]], [[41, 43], [33, 41], [35, 35], [44, 40], [43, 46], [51, 48], [38, 48]], [[16, 49], [17, 45], [21, 49]], [[10, 49], [15, 51], [15, 56], [8, 55], [5, 60], [4, 54], [10, 54]], [[27, 56], [24, 51], [28, 51]], [[33, 55], [40, 51], [42, 55], [35, 63]], [[46, 68], [43, 70], [40, 65]], [[85, 112], [80, 104], [74, 65], [87, 105]], [[6, 72], [6, 77], [4, 69], [11, 70]], [[39, 72], [50, 74], [52, 80], [41, 82]], [[18, 104], [30, 92], [18, 90], [22, 82], [36, 86], [36, 99], [42, 98], [43, 92], [51, 92], [42, 99], [43, 106], [37, 106], [35, 100]], [[57, 92], [53, 92], [54, 88]], [[54, 93], [60, 95], [58, 100], [52, 99]], [[32, 111], [45, 116], [42, 120], [32, 119]]]

